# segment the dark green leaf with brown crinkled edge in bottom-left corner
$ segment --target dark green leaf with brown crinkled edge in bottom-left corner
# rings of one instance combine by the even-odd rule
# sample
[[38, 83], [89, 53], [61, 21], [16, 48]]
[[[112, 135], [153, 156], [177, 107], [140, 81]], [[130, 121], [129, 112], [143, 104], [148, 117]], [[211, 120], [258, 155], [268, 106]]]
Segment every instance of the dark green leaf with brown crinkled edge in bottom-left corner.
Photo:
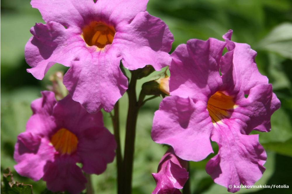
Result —
[[3, 181], [1, 181], [1, 193], [5, 194], [32, 194], [32, 185], [15, 182], [9, 168], [3, 171]]

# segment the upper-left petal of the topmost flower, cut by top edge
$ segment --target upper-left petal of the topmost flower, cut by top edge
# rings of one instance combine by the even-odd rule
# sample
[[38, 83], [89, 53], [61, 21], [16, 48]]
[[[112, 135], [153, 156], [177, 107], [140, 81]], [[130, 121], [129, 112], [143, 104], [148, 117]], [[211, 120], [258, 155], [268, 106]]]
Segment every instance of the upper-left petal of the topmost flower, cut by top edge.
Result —
[[94, 14], [93, 0], [32, 0], [31, 5], [37, 8], [45, 22], [59, 22], [64, 26], [78, 25], [83, 21], [84, 15]]

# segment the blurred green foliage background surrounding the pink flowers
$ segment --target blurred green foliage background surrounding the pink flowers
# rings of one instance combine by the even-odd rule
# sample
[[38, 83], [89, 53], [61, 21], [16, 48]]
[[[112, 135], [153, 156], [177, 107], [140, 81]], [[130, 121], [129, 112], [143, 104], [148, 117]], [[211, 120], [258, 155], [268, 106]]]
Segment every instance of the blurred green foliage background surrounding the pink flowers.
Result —
[[[290, 189], [241, 189], [238, 193], [292, 193], [292, 1], [150, 0], [147, 11], [168, 24], [175, 37], [173, 50], [191, 38], [223, 40], [222, 35], [233, 29], [233, 41], [246, 42], [258, 52], [258, 68], [268, 76], [282, 105], [272, 116], [272, 131], [260, 134], [260, 143], [268, 158], [267, 170], [256, 185], [286, 184]], [[36, 22], [44, 23], [39, 11], [31, 8], [29, 0], [1, 1], [1, 175], [5, 168], [10, 167], [16, 181], [32, 184], [34, 193], [41, 193], [45, 189], [43, 181], [33, 182], [15, 172], [14, 144], [17, 135], [25, 131], [25, 124], [32, 114], [30, 103], [40, 97], [40, 91], [46, 90], [50, 84], [49, 75], [67, 69], [57, 64], [42, 81], [26, 72], [29, 66], [24, 59], [24, 46], [31, 36], [29, 29]], [[155, 74], [158, 72], [140, 80], [137, 90]], [[123, 147], [126, 94], [120, 101]], [[160, 101], [161, 98], [157, 98], [147, 102], [139, 113], [133, 174], [135, 194], [153, 191], [156, 184], [151, 173], [156, 172], [158, 162], [167, 149], [154, 143], [150, 137], [154, 111]], [[104, 120], [106, 127], [112, 131], [108, 113], [104, 112]], [[214, 149], [216, 153], [216, 145]], [[192, 193], [227, 193], [225, 187], [213, 183], [206, 174], [208, 159], [190, 164]], [[116, 193], [115, 167], [114, 161], [105, 173], [92, 176], [96, 193]]]

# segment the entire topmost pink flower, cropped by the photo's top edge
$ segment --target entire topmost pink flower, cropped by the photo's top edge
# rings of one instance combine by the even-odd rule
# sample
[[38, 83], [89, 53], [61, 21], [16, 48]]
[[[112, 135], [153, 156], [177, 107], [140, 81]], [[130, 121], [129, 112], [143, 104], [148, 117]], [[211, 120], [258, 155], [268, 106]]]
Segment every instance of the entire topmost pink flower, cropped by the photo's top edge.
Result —
[[146, 11], [148, 0], [32, 0], [46, 24], [36, 24], [25, 46], [27, 71], [37, 79], [55, 63], [70, 67], [64, 84], [88, 112], [109, 112], [125, 93], [129, 70], [169, 65], [173, 35]]

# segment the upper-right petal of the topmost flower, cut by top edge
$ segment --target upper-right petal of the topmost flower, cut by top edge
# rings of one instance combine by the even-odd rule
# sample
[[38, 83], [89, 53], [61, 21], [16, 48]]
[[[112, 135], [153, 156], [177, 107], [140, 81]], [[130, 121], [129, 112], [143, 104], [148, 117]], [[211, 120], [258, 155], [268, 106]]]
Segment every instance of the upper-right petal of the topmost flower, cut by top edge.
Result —
[[139, 12], [145, 12], [149, 0], [98, 0], [97, 13], [114, 24], [130, 23]]

